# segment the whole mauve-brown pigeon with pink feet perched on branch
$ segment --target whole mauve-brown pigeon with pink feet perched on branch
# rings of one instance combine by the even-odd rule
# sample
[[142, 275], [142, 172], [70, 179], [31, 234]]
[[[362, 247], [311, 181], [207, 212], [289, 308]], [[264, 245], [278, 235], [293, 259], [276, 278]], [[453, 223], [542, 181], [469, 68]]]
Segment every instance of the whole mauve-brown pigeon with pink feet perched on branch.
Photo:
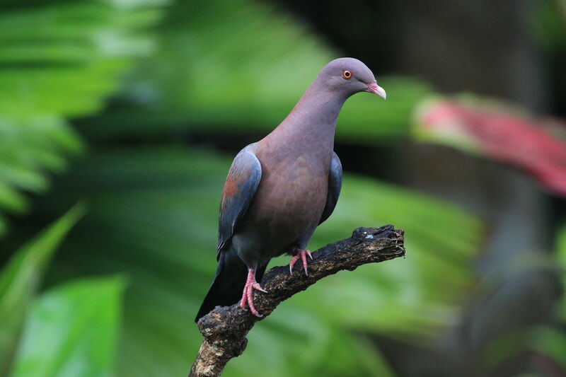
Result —
[[336, 120], [345, 100], [359, 92], [386, 98], [374, 74], [358, 59], [328, 63], [287, 117], [234, 158], [219, 210], [216, 277], [195, 318], [216, 306], [240, 302], [261, 317], [253, 291], [262, 289], [267, 263], [292, 255], [308, 275], [308, 240], [333, 213], [342, 187], [334, 152]]

